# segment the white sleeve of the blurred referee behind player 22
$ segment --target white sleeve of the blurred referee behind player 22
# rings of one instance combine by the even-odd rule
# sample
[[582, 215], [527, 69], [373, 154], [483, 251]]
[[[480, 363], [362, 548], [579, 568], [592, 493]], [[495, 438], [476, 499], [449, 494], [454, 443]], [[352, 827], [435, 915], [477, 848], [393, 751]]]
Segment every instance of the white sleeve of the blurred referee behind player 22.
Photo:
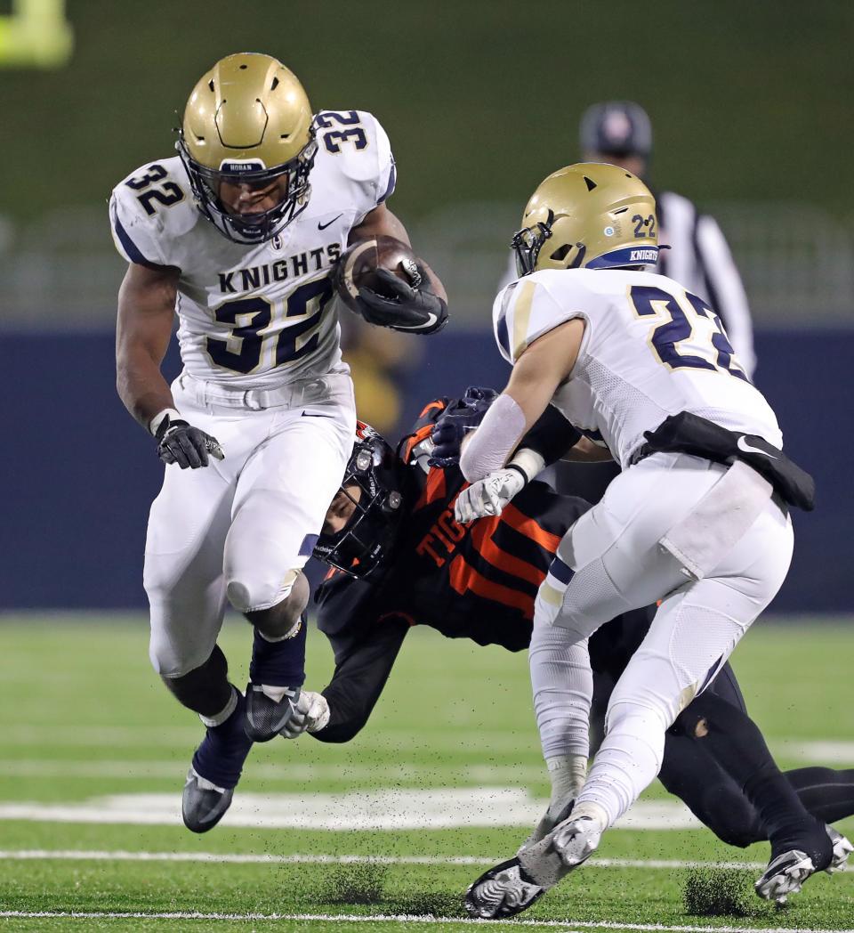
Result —
[[741, 276], [713, 217], [701, 216], [696, 222], [696, 258], [709, 292], [711, 307], [721, 315], [738, 361], [748, 376], [756, 369], [753, 352], [753, 322]]

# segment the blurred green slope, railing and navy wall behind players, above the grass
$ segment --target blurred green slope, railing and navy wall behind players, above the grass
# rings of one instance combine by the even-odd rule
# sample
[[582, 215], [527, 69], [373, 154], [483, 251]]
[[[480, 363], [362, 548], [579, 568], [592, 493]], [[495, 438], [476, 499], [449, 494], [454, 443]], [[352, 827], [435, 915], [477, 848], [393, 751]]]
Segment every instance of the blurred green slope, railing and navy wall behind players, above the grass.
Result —
[[[24, 67], [10, 45], [8, 23], [27, 11], [34, 42], [56, 35], [31, 62], [51, 67]], [[113, 389], [123, 263], [106, 199], [135, 166], [172, 153], [176, 112], [206, 67], [263, 49], [296, 71], [315, 108], [379, 116], [398, 163], [393, 210], [448, 285], [453, 321], [438, 340], [402, 348], [372, 335], [354, 354], [365, 413], [385, 427], [432, 393], [501, 383], [489, 310], [521, 207], [578, 158], [588, 104], [645, 106], [652, 180], [721, 221], [751, 299], [757, 381], [819, 483], [818, 511], [796, 517], [778, 608], [850, 608], [854, 7], [6, 0], [2, 13], [0, 606], [144, 605], [159, 468]]]

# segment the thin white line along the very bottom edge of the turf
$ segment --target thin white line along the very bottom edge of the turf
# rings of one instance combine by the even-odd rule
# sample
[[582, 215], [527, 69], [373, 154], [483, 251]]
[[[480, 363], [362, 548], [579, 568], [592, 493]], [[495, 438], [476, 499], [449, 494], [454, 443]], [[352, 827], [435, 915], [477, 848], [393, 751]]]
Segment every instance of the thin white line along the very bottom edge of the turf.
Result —
[[854, 933], [852, 929], [829, 927], [809, 929], [803, 926], [671, 926], [668, 924], [620, 924], [601, 920], [473, 920], [465, 917], [434, 917], [419, 913], [202, 913], [197, 911], [130, 912], [130, 911], [0, 911], [0, 918], [27, 917], [33, 919], [80, 920], [291, 920], [316, 923], [396, 923], [396, 924], [459, 924], [461, 926], [530, 926], [561, 929], [572, 933], [574, 929], [650, 930], [669, 933]]

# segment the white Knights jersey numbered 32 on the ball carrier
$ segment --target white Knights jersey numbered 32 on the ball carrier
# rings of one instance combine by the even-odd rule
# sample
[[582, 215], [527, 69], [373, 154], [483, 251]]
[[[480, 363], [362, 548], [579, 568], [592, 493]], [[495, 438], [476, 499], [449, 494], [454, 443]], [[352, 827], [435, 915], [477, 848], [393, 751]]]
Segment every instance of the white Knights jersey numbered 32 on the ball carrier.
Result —
[[184, 367], [238, 389], [271, 388], [339, 369], [329, 272], [350, 231], [394, 188], [376, 118], [324, 111], [308, 206], [269, 241], [232, 243], [201, 214], [176, 156], [113, 190], [110, 221], [129, 262], [180, 270], [176, 312]]

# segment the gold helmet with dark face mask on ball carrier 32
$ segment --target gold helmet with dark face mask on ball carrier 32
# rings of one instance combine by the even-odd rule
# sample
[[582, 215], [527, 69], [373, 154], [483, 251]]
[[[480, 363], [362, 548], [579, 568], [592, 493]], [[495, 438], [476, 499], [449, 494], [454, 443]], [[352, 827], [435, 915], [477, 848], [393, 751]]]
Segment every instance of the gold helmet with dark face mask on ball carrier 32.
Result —
[[[309, 202], [317, 153], [309, 98], [269, 55], [228, 55], [200, 78], [186, 103], [177, 149], [201, 213], [229, 240], [269, 240]], [[286, 181], [282, 200], [269, 211], [236, 216], [220, 200], [224, 181], [265, 188], [280, 178]]]

